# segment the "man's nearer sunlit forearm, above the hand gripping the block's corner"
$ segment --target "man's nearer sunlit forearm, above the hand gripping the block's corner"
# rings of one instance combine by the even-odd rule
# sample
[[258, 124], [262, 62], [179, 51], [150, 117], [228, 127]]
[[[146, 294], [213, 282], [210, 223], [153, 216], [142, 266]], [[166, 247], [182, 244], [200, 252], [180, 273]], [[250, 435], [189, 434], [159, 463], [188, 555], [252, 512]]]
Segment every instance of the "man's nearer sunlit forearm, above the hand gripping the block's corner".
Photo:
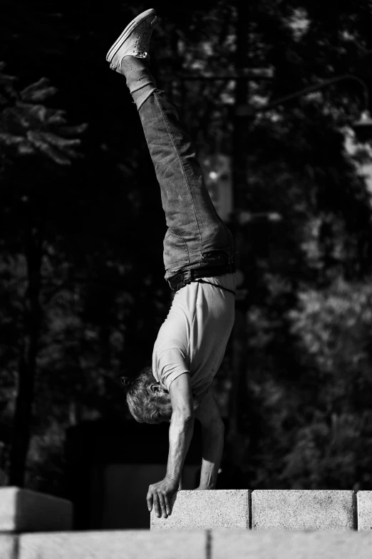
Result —
[[169, 428], [169, 454], [166, 477], [180, 481], [183, 463], [189, 450], [194, 430], [194, 417], [173, 412]]

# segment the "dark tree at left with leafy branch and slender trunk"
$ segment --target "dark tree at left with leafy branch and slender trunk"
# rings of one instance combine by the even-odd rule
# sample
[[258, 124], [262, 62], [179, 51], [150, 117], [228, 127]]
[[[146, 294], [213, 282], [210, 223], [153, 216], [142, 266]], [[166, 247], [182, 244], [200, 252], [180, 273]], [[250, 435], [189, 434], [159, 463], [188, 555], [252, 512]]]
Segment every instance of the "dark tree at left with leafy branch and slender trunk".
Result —
[[[22, 177], [23, 181], [15, 181], [14, 177], [20, 178], [18, 166], [22, 158], [28, 172], [32, 172], [37, 166], [43, 166], [44, 158], [46, 165], [49, 161], [69, 165], [71, 158], [77, 156], [75, 148], [80, 144], [80, 140], [74, 136], [81, 134], [86, 125], [66, 126], [63, 111], [48, 109], [41, 104], [55, 93], [55, 89], [49, 86], [46, 79], [41, 79], [18, 93], [13, 86], [14, 79], [2, 73], [3, 69], [4, 64], [0, 64], [1, 174], [6, 191], [5, 196], [3, 191], [5, 203], [1, 211], [3, 231], [8, 234], [2, 239], [1, 248], [13, 265], [19, 264], [24, 288], [21, 297], [23, 323], [21, 336], [17, 340], [19, 366], [9, 483], [22, 486], [29, 449], [36, 358], [43, 315], [40, 294], [46, 207], [45, 200], [43, 203], [38, 199], [35, 213], [31, 209], [19, 215], [21, 204], [32, 207], [33, 198], [38, 198], [40, 193], [37, 186], [25, 189], [25, 175]], [[13, 168], [17, 169], [14, 173]], [[24, 168], [22, 172], [24, 173]], [[11, 191], [6, 186], [11, 186]], [[10, 275], [9, 266], [5, 268], [4, 273], [5, 276]], [[20, 291], [19, 288], [17, 291]]]

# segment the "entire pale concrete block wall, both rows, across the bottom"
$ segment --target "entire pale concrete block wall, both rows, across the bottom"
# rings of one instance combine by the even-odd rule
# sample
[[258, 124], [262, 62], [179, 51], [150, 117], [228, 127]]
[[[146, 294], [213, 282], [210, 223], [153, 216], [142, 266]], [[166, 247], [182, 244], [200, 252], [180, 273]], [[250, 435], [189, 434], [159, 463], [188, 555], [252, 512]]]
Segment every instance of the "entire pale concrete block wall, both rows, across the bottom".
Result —
[[72, 512], [0, 488], [0, 559], [372, 558], [372, 491], [180, 491], [151, 530], [73, 532]]

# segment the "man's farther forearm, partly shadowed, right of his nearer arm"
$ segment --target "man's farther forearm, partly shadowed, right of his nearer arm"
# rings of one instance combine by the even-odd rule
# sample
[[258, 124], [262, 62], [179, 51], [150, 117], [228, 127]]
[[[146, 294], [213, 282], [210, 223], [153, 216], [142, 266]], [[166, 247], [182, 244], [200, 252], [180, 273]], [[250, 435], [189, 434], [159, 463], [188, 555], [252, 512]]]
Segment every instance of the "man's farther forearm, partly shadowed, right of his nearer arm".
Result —
[[224, 425], [202, 427], [202, 471], [199, 489], [215, 489], [224, 449]]

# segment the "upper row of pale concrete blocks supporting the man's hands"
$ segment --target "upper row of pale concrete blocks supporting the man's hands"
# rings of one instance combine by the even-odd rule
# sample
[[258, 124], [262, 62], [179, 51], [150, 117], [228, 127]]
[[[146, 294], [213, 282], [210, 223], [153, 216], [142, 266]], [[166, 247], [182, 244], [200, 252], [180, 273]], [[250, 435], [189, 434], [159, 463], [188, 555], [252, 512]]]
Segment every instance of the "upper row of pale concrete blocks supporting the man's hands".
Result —
[[[372, 530], [372, 491], [179, 491], [151, 530]], [[372, 555], [371, 555], [372, 557]]]

